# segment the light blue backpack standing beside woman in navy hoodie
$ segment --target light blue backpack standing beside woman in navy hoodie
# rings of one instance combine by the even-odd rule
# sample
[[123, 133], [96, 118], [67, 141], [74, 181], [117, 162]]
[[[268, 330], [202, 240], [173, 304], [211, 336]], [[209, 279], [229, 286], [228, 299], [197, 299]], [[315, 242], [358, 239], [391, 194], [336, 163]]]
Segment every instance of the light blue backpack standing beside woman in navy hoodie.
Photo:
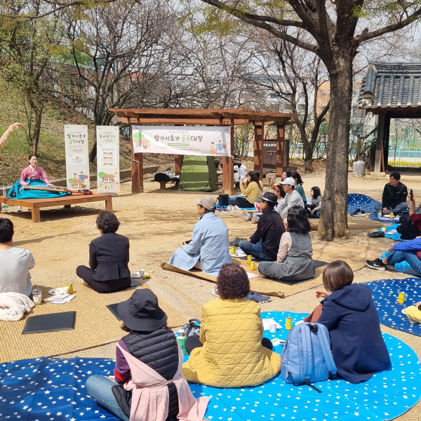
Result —
[[328, 380], [336, 374], [328, 329], [321, 323], [300, 323], [290, 331], [281, 353], [281, 377], [293, 385]]

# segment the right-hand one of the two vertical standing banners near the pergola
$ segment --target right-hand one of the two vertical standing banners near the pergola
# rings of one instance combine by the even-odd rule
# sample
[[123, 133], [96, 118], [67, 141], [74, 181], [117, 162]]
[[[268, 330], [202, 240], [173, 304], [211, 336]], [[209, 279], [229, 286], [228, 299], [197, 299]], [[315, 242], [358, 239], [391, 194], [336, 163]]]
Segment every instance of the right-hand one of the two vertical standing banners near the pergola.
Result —
[[98, 192], [120, 192], [120, 142], [116, 126], [96, 126]]

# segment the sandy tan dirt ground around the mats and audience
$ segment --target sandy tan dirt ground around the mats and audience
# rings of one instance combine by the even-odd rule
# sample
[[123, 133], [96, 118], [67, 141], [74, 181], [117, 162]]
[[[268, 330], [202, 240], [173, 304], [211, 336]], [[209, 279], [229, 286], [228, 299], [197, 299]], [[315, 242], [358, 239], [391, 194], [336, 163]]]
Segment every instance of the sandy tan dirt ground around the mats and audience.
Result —
[[[307, 196], [309, 189], [314, 186], [324, 187], [324, 174], [314, 173], [303, 175], [304, 188]], [[372, 178], [365, 176], [362, 179], [352, 177], [349, 173], [349, 193], [367, 194], [374, 199], [381, 199], [382, 189], [387, 178]], [[408, 187], [414, 189], [415, 195], [421, 192], [421, 175], [419, 173], [403, 173], [402, 180]], [[121, 221], [119, 234], [129, 237], [131, 241], [131, 262], [129, 267], [132, 271], [140, 268], [147, 269], [151, 273], [150, 282], [154, 286], [159, 281], [171, 283], [171, 286], [180, 293], [189, 295], [196, 303], [203, 305], [213, 299], [210, 288], [213, 285], [207, 281], [196, 279], [161, 269], [160, 263], [168, 261], [173, 251], [180, 246], [182, 241], [191, 238], [192, 227], [198, 220], [196, 205], [193, 199], [203, 196], [197, 192], [178, 192], [175, 187], [160, 190], [159, 184], [145, 180], [145, 192], [131, 194], [131, 182], [121, 185], [122, 191], [119, 196], [113, 198], [114, 211]], [[211, 194], [216, 197], [217, 192]], [[420, 195], [417, 203], [420, 201]], [[15, 246], [27, 248], [32, 251], [36, 265], [32, 269], [33, 283], [45, 283], [48, 279], [71, 279], [74, 283], [79, 282], [75, 270], [77, 265], [88, 264], [88, 243], [98, 236], [95, 227], [95, 218], [103, 209], [99, 203], [87, 204], [86, 206], [72, 206], [70, 209], [49, 208], [41, 210], [41, 223], [32, 224], [30, 211], [25, 208], [18, 213], [15, 208], [8, 208], [6, 215], [15, 224]], [[235, 236], [248, 237], [255, 230], [255, 225], [245, 222], [242, 218], [231, 215], [222, 215], [223, 220], [229, 227], [229, 238]], [[356, 247], [373, 247], [371, 258], [378, 256], [379, 249], [386, 249], [392, 241], [389, 239], [370, 239], [368, 232], [377, 230], [380, 222], [365, 218], [349, 217], [351, 236], [349, 239], [338, 241], [342, 246], [349, 247], [350, 255]], [[314, 222], [316, 228], [317, 222]], [[314, 241], [316, 232], [312, 232]], [[327, 259], [326, 259], [327, 260]], [[361, 262], [363, 265], [363, 262]], [[363, 268], [355, 272], [355, 281], [363, 282], [388, 277], [403, 278], [400, 274], [391, 272], [377, 272]], [[285, 310], [292, 312], [310, 312], [318, 300], [314, 297], [313, 290], [305, 290], [288, 298], [273, 298], [262, 305], [262, 311]], [[392, 330], [382, 326], [386, 333], [401, 338], [415, 349], [421, 356], [421, 338]], [[122, 336], [123, 336], [122, 332]], [[76, 354], [67, 354], [66, 357], [78, 356], [101, 356], [114, 358], [115, 346], [104, 345], [94, 347]], [[399, 417], [399, 420], [421, 420], [421, 403], [408, 413]]]

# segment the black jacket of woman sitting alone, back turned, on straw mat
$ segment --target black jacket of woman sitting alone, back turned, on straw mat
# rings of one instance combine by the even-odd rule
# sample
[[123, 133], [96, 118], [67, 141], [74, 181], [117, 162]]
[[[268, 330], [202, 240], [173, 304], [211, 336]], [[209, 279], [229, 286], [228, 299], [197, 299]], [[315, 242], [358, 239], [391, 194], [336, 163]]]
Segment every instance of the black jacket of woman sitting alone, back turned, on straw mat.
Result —
[[96, 269], [95, 281], [111, 281], [130, 277], [128, 270], [128, 238], [115, 232], [102, 234], [89, 244], [89, 266]]

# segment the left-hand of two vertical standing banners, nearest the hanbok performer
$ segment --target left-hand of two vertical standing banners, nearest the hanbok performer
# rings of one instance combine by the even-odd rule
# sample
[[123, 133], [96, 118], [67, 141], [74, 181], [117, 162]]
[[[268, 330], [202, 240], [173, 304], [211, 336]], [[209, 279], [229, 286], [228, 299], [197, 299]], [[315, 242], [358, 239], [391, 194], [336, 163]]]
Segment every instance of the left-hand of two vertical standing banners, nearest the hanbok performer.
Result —
[[65, 125], [68, 189], [89, 189], [88, 126]]

